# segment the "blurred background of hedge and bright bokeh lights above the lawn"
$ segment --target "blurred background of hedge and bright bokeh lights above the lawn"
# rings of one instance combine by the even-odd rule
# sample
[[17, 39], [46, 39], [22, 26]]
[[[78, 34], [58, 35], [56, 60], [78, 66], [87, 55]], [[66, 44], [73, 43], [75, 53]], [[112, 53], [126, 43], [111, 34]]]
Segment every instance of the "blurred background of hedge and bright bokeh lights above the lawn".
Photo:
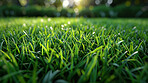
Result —
[[147, 18], [148, 0], [0, 0], [0, 17]]

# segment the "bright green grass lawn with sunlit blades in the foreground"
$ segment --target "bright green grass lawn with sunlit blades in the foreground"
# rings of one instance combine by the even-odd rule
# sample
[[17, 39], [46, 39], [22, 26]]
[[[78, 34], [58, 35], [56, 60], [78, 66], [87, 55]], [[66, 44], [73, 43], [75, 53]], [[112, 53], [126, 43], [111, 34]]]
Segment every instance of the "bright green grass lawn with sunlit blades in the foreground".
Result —
[[1, 18], [1, 83], [148, 82], [148, 19]]

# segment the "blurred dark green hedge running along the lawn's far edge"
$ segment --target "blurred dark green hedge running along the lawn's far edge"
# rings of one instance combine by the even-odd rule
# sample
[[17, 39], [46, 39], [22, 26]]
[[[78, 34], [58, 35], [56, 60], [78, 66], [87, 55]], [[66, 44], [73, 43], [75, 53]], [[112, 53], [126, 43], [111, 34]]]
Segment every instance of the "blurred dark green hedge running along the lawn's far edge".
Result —
[[[105, 5], [95, 6], [92, 9], [84, 8], [79, 10], [79, 17], [148, 17], [148, 10], [143, 11], [142, 6], [126, 6], [117, 5], [115, 7], [107, 7]], [[62, 8], [60, 11], [55, 7], [41, 7], [41, 6], [1, 6], [0, 16], [3, 17], [75, 17], [76, 13], [72, 8]]]

